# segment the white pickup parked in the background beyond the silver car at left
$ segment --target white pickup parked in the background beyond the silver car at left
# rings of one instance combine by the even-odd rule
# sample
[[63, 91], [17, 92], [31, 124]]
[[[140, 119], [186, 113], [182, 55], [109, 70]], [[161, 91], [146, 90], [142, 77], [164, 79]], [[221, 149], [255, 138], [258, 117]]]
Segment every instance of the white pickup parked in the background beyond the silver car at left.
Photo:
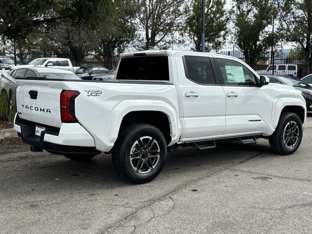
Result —
[[40, 66], [40, 67], [52, 67], [52, 68], [59, 68], [67, 71], [73, 72], [78, 67], [73, 67], [72, 62], [69, 59], [63, 59], [63, 58], [40, 58], [40, 59], [34, 59], [27, 65], [18, 65], [12, 67], [12, 69], [15, 68], [21, 68], [21, 67], [31, 67], [31, 66]]

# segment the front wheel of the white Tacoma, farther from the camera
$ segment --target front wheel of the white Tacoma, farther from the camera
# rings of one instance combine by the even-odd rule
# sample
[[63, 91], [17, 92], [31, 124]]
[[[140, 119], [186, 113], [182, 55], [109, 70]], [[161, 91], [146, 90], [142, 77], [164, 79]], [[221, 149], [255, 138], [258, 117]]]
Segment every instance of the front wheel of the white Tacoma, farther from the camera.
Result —
[[302, 135], [300, 118], [294, 113], [283, 112], [275, 132], [269, 138], [270, 146], [277, 154], [291, 155], [299, 148]]

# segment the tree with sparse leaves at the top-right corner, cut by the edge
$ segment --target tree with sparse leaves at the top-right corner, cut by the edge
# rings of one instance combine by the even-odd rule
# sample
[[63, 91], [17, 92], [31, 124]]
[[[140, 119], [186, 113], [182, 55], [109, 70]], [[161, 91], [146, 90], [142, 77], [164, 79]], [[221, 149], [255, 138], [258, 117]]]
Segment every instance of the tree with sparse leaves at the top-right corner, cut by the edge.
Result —
[[279, 0], [279, 29], [283, 37], [295, 42], [305, 53], [308, 73], [312, 73], [312, 1]]

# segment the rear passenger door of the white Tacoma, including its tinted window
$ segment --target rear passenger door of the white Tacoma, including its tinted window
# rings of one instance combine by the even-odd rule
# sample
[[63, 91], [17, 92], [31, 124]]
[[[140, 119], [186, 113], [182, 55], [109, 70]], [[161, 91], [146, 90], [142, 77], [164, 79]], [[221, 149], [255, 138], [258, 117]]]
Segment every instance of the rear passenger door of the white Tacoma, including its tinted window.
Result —
[[221, 136], [225, 130], [225, 94], [209, 55], [176, 54], [187, 139]]

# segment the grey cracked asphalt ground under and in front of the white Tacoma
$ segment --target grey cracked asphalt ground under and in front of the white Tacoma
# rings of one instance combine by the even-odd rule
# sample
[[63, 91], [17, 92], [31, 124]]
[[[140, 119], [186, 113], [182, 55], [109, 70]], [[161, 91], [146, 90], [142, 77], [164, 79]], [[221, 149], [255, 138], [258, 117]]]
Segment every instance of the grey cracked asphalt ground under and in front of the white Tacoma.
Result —
[[291, 156], [257, 144], [178, 149], [146, 184], [119, 180], [110, 156], [74, 162], [0, 154], [0, 234], [312, 233], [312, 115]]

